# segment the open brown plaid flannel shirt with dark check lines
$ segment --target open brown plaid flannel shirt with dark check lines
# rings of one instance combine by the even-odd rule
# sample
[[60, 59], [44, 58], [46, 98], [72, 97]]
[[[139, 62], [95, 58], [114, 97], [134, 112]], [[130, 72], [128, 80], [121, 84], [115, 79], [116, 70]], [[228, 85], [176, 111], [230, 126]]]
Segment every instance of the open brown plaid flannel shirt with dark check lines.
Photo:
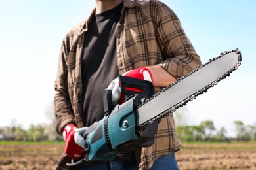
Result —
[[[62, 42], [55, 82], [56, 128], [62, 134], [66, 124], [83, 127], [81, 54], [91, 17], [75, 25]], [[160, 65], [175, 78], [201, 65], [175, 13], [158, 0], [123, 1], [121, 18], [116, 27], [117, 65], [119, 74], [139, 67]], [[156, 89], [158, 91], [160, 89]], [[149, 169], [154, 160], [179, 150], [173, 114], [161, 119], [155, 143], [136, 150], [139, 169]], [[66, 154], [56, 169], [67, 169]]]

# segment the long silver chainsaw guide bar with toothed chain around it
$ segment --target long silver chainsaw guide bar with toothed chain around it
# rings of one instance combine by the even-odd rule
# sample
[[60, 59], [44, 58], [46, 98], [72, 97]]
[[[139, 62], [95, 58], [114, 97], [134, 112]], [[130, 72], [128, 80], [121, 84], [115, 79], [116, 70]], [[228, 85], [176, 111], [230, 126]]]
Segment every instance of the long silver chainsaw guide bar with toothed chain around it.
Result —
[[167, 114], [175, 112], [198, 95], [230, 76], [241, 65], [242, 57], [238, 49], [221, 53], [207, 63], [182, 76], [167, 88], [163, 88], [150, 99], [137, 107], [138, 127], [140, 131], [153, 122], [159, 121]]

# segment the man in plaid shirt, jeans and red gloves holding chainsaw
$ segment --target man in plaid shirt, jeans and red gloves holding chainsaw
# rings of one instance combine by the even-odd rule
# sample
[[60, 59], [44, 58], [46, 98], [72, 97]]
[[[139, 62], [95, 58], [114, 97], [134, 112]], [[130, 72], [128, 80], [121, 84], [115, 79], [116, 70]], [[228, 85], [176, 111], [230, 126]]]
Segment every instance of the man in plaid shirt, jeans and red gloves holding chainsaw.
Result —
[[[179, 19], [160, 1], [95, 2], [89, 18], [75, 25], [62, 42], [54, 102], [56, 128], [66, 146], [57, 169], [66, 169], [70, 158], [83, 157], [85, 151], [74, 142], [74, 128], [102, 119], [102, 92], [118, 75], [129, 71], [126, 76], [149, 78], [158, 92], [201, 65]], [[178, 169], [174, 152], [179, 147], [173, 114], [169, 114], [158, 124], [152, 146], [79, 168]]]

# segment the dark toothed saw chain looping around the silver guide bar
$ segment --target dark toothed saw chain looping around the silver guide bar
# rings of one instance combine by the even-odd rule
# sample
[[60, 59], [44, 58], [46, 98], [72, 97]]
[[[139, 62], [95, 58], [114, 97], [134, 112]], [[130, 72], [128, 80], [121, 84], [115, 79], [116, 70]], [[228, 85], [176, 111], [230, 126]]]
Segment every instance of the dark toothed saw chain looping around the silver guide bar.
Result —
[[154, 99], [156, 96], [160, 95], [161, 93], [165, 92], [167, 89], [171, 88], [172, 86], [174, 86], [175, 84], [179, 83], [182, 79], [186, 78], [187, 76], [192, 75], [193, 73], [195, 73], [196, 71], [198, 71], [199, 69], [201, 69], [202, 67], [205, 67], [206, 65], [208, 65], [209, 63], [211, 63], [212, 61], [215, 61], [218, 58], [223, 57], [226, 54], [229, 54], [230, 52], [236, 52], [236, 54], [238, 54], [238, 63], [236, 63], [236, 65], [230, 69], [230, 71], [228, 71], [227, 73], [224, 73], [223, 76], [219, 77], [217, 80], [215, 80], [214, 82], [212, 82], [211, 84], [209, 84], [208, 86], [205, 86], [205, 88], [202, 88], [202, 90], [200, 90], [199, 92], [194, 93], [193, 95], [191, 95], [190, 97], [184, 99], [183, 101], [181, 101], [180, 103], [177, 103], [177, 105], [171, 107], [170, 109], [165, 110], [165, 112], [162, 112], [161, 114], [159, 114], [158, 116], [156, 116], [155, 118], [152, 118], [150, 120], [148, 120], [148, 122], [145, 122], [144, 124], [139, 126], [138, 131], [142, 131], [143, 129], [146, 129], [146, 126], [148, 126], [149, 124], [154, 123], [156, 120], [160, 120], [161, 118], [167, 116], [167, 114], [169, 113], [173, 113], [175, 112], [179, 107], [183, 107], [184, 105], [186, 105], [186, 103], [188, 103], [189, 101], [193, 101], [194, 99], [196, 99], [196, 97], [198, 97], [198, 95], [206, 93], [207, 90], [215, 85], [218, 84], [219, 81], [225, 79], [226, 77], [230, 76], [230, 73], [232, 73], [232, 71], [238, 69], [238, 67], [241, 65], [241, 52], [240, 50], [238, 50], [238, 48], [234, 49], [234, 50], [230, 50], [230, 51], [225, 51], [222, 52], [218, 57], [210, 59], [207, 63], [198, 66], [197, 69], [190, 71], [190, 73], [188, 73], [186, 76], [181, 76], [181, 78], [179, 78], [176, 82], [173, 82], [172, 84], [170, 84], [169, 86], [167, 86], [166, 88], [163, 88], [160, 90], [160, 92], [152, 95], [152, 97], [150, 97], [150, 99], [146, 99], [144, 101], [142, 101], [142, 104], [140, 104], [137, 109], [139, 107], [142, 107], [142, 105], [144, 105], [145, 103], [147, 103], [148, 101]]

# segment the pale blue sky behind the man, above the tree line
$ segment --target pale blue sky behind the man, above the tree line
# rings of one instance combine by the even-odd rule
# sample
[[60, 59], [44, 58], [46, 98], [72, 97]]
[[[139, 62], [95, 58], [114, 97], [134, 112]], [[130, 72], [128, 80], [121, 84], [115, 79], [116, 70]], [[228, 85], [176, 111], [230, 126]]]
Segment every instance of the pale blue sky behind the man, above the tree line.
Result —
[[[256, 124], [256, 1], [165, 0], [179, 16], [205, 63], [239, 48], [242, 65], [218, 86], [189, 103], [187, 124], [213, 120], [232, 131], [235, 120]], [[48, 122], [45, 109], [54, 98], [54, 80], [62, 37], [87, 18], [94, 1], [0, 1], [0, 126]]]

